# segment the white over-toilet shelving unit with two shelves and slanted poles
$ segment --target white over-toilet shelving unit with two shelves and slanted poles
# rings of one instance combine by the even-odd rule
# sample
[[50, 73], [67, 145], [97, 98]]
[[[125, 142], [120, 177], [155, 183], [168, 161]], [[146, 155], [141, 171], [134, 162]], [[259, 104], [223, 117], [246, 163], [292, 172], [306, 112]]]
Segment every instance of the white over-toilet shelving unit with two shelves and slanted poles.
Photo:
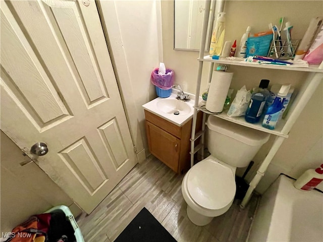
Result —
[[[222, 3], [224, 6], [224, 3]], [[300, 90], [296, 98], [294, 99], [293, 103], [290, 105], [290, 110], [286, 117], [278, 123], [278, 126], [275, 130], [268, 130], [261, 126], [261, 124], [250, 124], [245, 122], [244, 117], [229, 117], [227, 113], [221, 114], [212, 114], [211, 112], [207, 111], [206, 109], [202, 109], [198, 107], [198, 98], [195, 98], [194, 104], [194, 113], [193, 113], [193, 124], [192, 124], [192, 133], [191, 133], [191, 166], [194, 165], [194, 154], [201, 149], [201, 155], [203, 157], [203, 148], [204, 148], [204, 131], [205, 131], [205, 120], [206, 114], [216, 115], [219, 118], [226, 119], [229, 122], [233, 122], [245, 127], [249, 127], [251, 129], [260, 130], [262, 132], [270, 133], [275, 135], [275, 141], [266, 155], [265, 159], [261, 162], [260, 167], [257, 170], [256, 175], [253, 177], [249, 184], [249, 189], [241, 203], [241, 207], [245, 207], [248, 203], [253, 190], [258, 185], [260, 179], [264, 175], [268, 165], [272, 161], [273, 157], [275, 156], [276, 152], [280, 148], [283, 141], [288, 138], [288, 134], [295, 124], [298, 116], [302, 112], [303, 108], [307, 104], [308, 100], [313, 95], [314, 91], [316, 90], [317, 86], [323, 79], [323, 63], [321, 65], [310, 65], [308, 68], [303, 67], [293, 67], [293, 66], [275, 66], [275, 65], [255, 65], [255, 64], [248, 64], [242, 63], [241, 61], [229, 60], [229, 59], [218, 59], [214, 60], [209, 56], [203, 56], [204, 49], [205, 49], [205, 40], [206, 40], [206, 32], [207, 32], [207, 23], [208, 23], [208, 13], [210, 9], [210, 0], [207, 0], [205, 3], [205, 11], [203, 17], [203, 26], [202, 26], [202, 37], [201, 37], [201, 46], [199, 51], [199, 58], [198, 58], [198, 74], [197, 74], [197, 82], [196, 82], [196, 90], [195, 95], [199, 96], [200, 93], [200, 85], [201, 85], [201, 77], [202, 77], [202, 67], [204, 62], [210, 63], [209, 75], [208, 75], [208, 82], [210, 82], [213, 72], [214, 63], [217, 64], [225, 64], [225, 65], [234, 65], [234, 66], [242, 66], [242, 67], [250, 67], [250, 68], [265, 68], [269, 70], [286, 70], [286, 71], [299, 71], [299, 72], [307, 72], [307, 78], [303, 82]], [[195, 134], [196, 130], [196, 118], [197, 118], [197, 111], [203, 111], [203, 122], [202, 122], [202, 131]], [[195, 141], [201, 137], [200, 144], [195, 146]]]

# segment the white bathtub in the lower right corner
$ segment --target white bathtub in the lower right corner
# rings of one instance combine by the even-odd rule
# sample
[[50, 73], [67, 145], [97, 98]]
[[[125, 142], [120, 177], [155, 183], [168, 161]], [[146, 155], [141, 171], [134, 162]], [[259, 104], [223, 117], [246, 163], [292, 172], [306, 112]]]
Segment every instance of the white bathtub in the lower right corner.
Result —
[[247, 241], [323, 241], [323, 193], [280, 175], [262, 195]]

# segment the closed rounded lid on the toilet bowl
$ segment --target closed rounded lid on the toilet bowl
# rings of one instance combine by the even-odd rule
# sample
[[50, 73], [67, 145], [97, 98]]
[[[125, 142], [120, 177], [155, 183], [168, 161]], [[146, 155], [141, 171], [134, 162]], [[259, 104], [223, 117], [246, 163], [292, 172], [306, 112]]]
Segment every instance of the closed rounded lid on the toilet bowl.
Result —
[[224, 208], [236, 193], [233, 171], [211, 159], [201, 161], [190, 169], [187, 188], [192, 199], [207, 209]]

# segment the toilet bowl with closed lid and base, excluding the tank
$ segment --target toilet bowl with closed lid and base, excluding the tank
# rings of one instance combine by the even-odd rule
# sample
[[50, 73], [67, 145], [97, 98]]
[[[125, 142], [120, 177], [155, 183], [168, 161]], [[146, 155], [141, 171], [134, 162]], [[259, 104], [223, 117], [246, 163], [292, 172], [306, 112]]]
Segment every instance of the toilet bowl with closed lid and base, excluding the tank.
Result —
[[182, 194], [194, 224], [206, 225], [228, 211], [236, 193], [235, 170], [210, 155], [185, 174]]

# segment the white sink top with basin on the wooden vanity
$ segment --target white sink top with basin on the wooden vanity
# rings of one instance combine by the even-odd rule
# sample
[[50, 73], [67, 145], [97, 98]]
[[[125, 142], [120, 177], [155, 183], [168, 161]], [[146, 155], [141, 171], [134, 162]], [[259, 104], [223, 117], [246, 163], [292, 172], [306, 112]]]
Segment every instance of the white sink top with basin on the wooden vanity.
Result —
[[178, 90], [173, 89], [170, 97], [157, 97], [142, 107], [177, 126], [182, 126], [193, 116], [195, 95], [187, 93], [191, 100], [184, 102], [176, 99], [177, 92]]

